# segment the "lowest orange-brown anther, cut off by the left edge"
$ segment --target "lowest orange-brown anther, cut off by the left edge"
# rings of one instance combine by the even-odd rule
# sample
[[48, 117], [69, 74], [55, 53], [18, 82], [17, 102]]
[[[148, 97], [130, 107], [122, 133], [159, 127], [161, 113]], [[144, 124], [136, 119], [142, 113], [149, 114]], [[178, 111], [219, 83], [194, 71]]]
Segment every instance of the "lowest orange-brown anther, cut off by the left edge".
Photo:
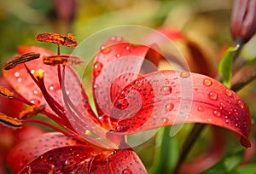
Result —
[[20, 119], [9, 117], [5, 115], [4, 113], [0, 113], [0, 123], [2, 125], [5, 125], [7, 127], [11, 128], [21, 128], [22, 127], [22, 122]]

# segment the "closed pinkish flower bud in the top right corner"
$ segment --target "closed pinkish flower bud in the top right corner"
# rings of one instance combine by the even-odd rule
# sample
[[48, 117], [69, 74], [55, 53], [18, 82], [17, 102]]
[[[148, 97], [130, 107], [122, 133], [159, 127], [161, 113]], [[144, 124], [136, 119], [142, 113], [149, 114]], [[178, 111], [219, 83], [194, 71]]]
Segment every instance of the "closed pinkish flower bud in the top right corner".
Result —
[[256, 0], [234, 0], [230, 29], [232, 37], [246, 43], [256, 32]]

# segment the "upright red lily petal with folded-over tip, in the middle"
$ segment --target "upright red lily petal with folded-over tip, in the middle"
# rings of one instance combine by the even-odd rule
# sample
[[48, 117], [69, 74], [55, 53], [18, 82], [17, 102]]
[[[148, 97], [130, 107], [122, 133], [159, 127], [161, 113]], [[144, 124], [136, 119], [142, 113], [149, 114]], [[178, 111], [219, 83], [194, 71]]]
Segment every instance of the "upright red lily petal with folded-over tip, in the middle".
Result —
[[[124, 86], [137, 78], [149, 49], [148, 46], [125, 43], [120, 38], [103, 45], [103, 49], [96, 55], [92, 83], [99, 116], [103, 118], [111, 115], [113, 98], [121, 90], [119, 85]], [[155, 55], [154, 51], [150, 55]], [[151, 60], [150, 56], [148, 59]], [[121, 77], [124, 73], [127, 75]], [[110, 128], [106, 125], [106, 129]]]

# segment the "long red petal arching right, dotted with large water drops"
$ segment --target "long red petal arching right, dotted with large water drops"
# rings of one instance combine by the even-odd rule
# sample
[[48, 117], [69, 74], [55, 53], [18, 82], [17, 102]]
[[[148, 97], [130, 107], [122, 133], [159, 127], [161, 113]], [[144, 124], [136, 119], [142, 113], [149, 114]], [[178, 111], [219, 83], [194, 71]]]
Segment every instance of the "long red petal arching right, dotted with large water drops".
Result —
[[[196, 73], [163, 71], [137, 78], [124, 89], [116, 103], [131, 98], [128, 103], [131, 109], [119, 118], [114, 131], [131, 134], [162, 125], [196, 122], [235, 131], [241, 135], [242, 145], [250, 146], [251, 117], [247, 105], [235, 92], [213, 78]], [[131, 114], [132, 109], [137, 113]]]

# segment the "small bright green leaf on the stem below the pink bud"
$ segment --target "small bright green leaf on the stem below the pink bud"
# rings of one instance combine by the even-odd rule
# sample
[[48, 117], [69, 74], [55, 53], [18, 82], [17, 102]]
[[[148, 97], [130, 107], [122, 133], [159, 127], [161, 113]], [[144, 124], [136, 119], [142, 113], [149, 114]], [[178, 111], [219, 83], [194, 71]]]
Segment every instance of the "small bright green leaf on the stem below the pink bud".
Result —
[[223, 78], [223, 83], [230, 88], [231, 78], [232, 78], [232, 68], [233, 68], [233, 52], [236, 51], [239, 47], [230, 47], [224, 57], [219, 63], [218, 73]]

